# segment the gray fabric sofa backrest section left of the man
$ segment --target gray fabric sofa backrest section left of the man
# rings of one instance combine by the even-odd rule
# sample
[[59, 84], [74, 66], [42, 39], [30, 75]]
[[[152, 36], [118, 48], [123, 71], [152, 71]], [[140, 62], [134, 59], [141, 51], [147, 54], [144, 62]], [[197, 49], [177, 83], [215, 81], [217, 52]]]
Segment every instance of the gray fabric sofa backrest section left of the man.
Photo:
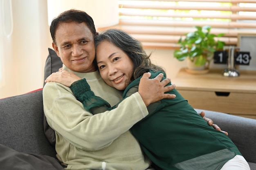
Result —
[[0, 99], [0, 144], [19, 152], [56, 157], [43, 129], [42, 90]]

